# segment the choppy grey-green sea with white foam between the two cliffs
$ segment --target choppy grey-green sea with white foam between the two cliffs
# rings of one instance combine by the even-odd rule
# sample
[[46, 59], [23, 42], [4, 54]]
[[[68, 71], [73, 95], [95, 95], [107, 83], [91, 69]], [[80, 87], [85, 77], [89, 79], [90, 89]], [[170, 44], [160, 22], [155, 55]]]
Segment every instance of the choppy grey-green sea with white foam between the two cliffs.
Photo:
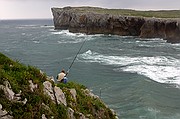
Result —
[[180, 119], [180, 44], [54, 30], [52, 19], [1, 20], [0, 52], [53, 77], [77, 54], [68, 81], [85, 85], [120, 119]]

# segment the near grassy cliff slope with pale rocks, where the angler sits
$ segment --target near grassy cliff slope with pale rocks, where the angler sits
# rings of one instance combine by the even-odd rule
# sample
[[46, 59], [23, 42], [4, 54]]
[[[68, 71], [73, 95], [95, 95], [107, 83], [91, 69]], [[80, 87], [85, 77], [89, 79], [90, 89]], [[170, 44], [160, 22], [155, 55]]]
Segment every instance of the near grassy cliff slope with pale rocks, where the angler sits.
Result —
[[35, 67], [0, 53], [0, 119], [115, 119], [85, 86], [55, 84]]

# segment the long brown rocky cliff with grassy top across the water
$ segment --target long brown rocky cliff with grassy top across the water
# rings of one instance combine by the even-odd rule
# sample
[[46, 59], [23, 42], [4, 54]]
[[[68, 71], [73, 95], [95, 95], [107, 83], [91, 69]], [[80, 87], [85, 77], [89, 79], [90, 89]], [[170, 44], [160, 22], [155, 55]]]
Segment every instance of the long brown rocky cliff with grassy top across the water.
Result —
[[[180, 16], [178, 16], [180, 11], [175, 11], [177, 18], [148, 18], [143, 16], [147, 16], [149, 12], [143, 14], [131, 10], [126, 13], [122, 10], [119, 12], [120, 10], [93, 7], [65, 7], [51, 10], [55, 29], [68, 29], [70, 32], [86, 34], [163, 38], [171, 43], [180, 42]], [[167, 14], [166, 11], [159, 14], [165, 13]], [[169, 16], [172, 14], [169, 13]]]

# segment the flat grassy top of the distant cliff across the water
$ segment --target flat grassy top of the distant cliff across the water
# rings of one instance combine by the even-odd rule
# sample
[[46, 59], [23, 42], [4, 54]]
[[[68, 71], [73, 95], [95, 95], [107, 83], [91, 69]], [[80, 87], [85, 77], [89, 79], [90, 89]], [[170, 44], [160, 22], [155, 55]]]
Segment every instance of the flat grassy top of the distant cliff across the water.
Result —
[[[53, 8], [54, 9], [54, 8]], [[140, 17], [155, 17], [155, 18], [180, 18], [180, 10], [150, 10], [138, 11], [131, 9], [107, 9], [99, 7], [64, 7], [55, 8], [56, 10], [71, 10], [78, 13], [96, 13], [96, 14], [111, 14], [123, 16], [140, 16]]]

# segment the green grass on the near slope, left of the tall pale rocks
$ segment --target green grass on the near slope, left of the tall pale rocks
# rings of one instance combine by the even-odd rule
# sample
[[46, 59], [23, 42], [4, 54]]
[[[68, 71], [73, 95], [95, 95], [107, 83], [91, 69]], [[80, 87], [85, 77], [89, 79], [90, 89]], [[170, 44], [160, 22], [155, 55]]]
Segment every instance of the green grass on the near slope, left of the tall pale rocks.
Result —
[[[54, 118], [67, 118], [67, 114], [65, 114], [67, 107], [63, 105], [56, 106], [43, 93], [43, 82], [46, 80], [46, 74], [41, 74], [39, 69], [15, 62], [0, 53], [0, 84], [3, 84], [6, 80], [10, 82], [15, 93], [22, 91], [22, 100], [25, 98], [28, 100], [26, 105], [9, 101], [3, 91], [0, 90], [0, 104], [7, 111], [12, 112], [15, 119], [39, 119], [42, 114], [46, 114], [48, 118], [52, 116]], [[30, 90], [28, 80], [38, 84], [38, 88], [34, 92]], [[52, 111], [45, 110], [42, 103], [48, 105]]]

